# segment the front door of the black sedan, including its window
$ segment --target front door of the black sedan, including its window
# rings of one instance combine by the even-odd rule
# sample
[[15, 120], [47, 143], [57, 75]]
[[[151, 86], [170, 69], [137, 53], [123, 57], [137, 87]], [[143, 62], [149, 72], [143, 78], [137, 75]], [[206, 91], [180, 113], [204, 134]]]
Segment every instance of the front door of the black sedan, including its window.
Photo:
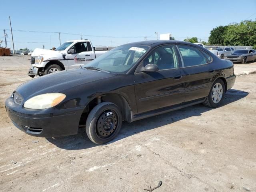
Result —
[[[147, 64], [156, 64], [157, 72], [140, 72]], [[183, 70], [174, 45], [154, 49], [134, 75], [138, 114], [184, 102]]]

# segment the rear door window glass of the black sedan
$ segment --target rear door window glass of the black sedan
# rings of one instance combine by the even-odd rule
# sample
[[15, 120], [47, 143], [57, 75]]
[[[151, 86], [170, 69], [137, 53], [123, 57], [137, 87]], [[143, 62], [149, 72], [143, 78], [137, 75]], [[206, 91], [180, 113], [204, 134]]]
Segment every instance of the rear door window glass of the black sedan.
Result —
[[187, 45], [177, 45], [182, 56], [184, 67], [202, 65], [208, 63], [206, 57], [200, 50]]

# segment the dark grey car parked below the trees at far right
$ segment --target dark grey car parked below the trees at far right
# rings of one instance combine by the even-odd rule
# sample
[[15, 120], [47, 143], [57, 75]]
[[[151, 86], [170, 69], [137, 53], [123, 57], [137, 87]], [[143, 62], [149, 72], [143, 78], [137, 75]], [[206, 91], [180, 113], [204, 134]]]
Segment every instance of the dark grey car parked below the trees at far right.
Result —
[[256, 50], [254, 49], [241, 49], [236, 50], [233, 54], [224, 57], [226, 60], [238, 63], [247, 63], [248, 61], [256, 60]]

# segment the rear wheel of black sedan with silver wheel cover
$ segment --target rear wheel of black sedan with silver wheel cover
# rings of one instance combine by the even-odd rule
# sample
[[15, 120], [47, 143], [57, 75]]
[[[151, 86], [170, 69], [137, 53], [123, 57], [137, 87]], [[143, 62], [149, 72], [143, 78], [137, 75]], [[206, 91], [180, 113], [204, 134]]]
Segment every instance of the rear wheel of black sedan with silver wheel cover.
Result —
[[212, 84], [210, 93], [203, 102], [204, 106], [211, 108], [220, 106], [221, 102], [223, 101], [225, 91], [224, 82], [221, 79], [217, 79]]

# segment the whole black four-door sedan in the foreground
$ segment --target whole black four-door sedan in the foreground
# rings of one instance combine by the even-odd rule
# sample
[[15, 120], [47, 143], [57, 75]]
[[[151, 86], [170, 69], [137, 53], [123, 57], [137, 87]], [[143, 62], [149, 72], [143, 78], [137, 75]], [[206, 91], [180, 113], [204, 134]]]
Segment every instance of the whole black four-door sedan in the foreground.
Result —
[[84, 68], [30, 80], [5, 104], [13, 124], [29, 135], [67, 136], [85, 127], [92, 142], [104, 144], [122, 121], [199, 103], [220, 106], [235, 78], [232, 62], [202, 46], [144, 41], [116, 47]]

